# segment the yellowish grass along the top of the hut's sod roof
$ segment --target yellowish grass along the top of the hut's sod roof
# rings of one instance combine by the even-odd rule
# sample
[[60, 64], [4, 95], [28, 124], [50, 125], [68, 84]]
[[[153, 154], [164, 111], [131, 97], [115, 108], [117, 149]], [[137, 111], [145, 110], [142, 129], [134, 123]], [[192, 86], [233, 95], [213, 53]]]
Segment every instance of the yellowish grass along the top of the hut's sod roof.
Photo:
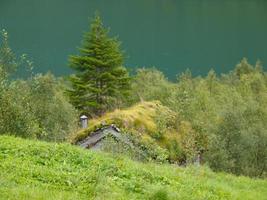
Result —
[[87, 137], [91, 132], [103, 125], [115, 124], [121, 129], [134, 130], [141, 136], [153, 135], [157, 131], [156, 117], [158, 113], [166, 113], [168, 117], [175, 115], [160, 102], [141, 102], [127, 109], [116, 109], [101, 117], [91, 119], [89, 127], [75, 133], [70, 138], [72, 143]]

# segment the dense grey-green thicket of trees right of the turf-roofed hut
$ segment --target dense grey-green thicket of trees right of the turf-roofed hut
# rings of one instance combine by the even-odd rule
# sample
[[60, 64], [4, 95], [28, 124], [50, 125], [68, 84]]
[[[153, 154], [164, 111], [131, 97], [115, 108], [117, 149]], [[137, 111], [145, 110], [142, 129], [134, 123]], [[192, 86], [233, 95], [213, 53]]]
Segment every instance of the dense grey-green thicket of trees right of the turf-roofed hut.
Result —
[[132, 84], [131, 96], [140, 89], [143, 101], [160, 100], [176, 113], [177, 142], [165, 141], [172, 158], [192, 163], [200, 154], [214, 170], [266, 177], [267, 76], [259, 61], [253, 66], [244, 58], [221, 76], [211, 70], [194, 78], [187, 70], [175, 83], [155, 69], [142, 69]]

